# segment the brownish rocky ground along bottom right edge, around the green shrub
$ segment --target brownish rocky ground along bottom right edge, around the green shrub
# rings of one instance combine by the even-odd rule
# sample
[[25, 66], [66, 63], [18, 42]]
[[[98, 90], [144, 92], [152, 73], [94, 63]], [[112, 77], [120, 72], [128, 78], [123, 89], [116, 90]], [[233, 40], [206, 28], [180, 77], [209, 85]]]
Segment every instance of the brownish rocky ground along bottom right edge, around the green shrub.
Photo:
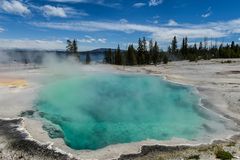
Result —
[[207, 159], [214, 160], [216, 151], [221, 149], [233, 155], [232, 159], [239, 159], [240, 135], [228, 140], [216, 140], [211, 144], [198, 146], [143, 146], [139, 154], [122, 155], [119, 160], [164, 160], [164, 159]]

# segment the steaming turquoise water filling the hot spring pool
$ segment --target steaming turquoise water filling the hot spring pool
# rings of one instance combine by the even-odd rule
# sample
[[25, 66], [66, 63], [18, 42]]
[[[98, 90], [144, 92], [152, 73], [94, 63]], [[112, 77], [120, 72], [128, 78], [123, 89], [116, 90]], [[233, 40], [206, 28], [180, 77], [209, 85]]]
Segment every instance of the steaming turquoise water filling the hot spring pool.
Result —
[[208, 123], [192, 89], [146, 75], [61, 78], [39, 94], [37, 109], [73, 149], [172, 137], [192, 140]]

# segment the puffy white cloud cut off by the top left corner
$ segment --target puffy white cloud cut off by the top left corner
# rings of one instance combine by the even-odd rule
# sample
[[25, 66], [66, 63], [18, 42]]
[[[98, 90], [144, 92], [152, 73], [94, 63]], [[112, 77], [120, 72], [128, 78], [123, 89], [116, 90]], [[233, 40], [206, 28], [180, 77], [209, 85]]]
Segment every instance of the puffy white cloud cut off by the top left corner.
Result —
[[17, 0], [1, 0], [0, 8], [7, 13], [17, 14], [21, 16], [31, 13], [25, 4]]

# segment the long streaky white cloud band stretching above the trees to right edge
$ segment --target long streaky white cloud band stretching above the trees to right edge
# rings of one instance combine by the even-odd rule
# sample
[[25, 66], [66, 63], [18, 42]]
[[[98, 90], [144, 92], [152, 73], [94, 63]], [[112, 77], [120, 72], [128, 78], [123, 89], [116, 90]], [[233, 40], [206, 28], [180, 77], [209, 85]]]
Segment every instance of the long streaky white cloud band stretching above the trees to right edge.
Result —
[[[31, 23], [37, 27], [50, 29], [70, 30], [70, 31], [118, 31], [125, 33], [143, 32], [151, 35], [152, 38], [159, 41], [168, 42], [173, 36], [183, 38], [221, 38], [232, 34], [240, 34], [240, 18], [231, 21], [210, 22], [206, 24], [178, 24], [175, 21], [169, 24], [143, 25], [134, 23], [98, 22], [98, 21], [79, 21], [66, 23], [53, 22], [35, 22]], [[173, 25], [174, 24], [174, 25]]]

